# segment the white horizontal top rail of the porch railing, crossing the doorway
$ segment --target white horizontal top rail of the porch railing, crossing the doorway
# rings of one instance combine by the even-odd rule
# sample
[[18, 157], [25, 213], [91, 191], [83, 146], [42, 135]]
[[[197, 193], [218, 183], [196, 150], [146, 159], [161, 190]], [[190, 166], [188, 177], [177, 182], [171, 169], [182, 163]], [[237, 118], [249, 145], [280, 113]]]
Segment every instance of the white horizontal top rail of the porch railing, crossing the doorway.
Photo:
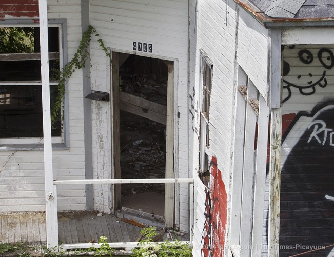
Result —
[[179, 178], [179, 179], [90, 179], [90, 180], [54, 180], [53, 181], [53, 185], [132, 184], [132, 183], [193, 183], [193, 178]]

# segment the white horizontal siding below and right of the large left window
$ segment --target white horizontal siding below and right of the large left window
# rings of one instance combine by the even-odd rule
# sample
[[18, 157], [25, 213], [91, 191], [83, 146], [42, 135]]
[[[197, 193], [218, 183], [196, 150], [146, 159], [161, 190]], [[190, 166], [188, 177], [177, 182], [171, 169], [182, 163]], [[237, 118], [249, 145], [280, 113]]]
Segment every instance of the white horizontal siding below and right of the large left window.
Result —
[[[49, 19], [67, 19], [67, 50], [68, 60], [71, 60], [81, 39], [80, 0], [49, 0], [48, 8]], [[6, 18], [17, 19], [18, 16], [8, 14]], [[27, 19], [27, 16], [21, 18]], [[55, 179], [84, 179], [81, 70], [73, 73], [68, 86], [70, 149], [53, 151], [53, 174]], [[0, 163], [0, 211], [45, 210], [43, 151], [0, 151]], [[59, 186], [58, 210], [85, 210], [85, 186]]]

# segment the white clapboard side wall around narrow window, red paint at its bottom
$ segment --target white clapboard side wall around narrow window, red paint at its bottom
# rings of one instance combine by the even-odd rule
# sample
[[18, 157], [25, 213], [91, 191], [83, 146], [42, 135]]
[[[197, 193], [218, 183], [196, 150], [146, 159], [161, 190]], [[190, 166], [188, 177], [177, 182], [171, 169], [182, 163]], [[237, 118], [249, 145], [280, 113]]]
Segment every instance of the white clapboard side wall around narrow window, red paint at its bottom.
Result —
[[[233, 106], [233, 78], [235, 55], [235, 3], [222, 1], [190, 1], [190, 85], [189, 85], [189, 167], [194, 183], [194, 256], [222, 256], [226, 235], [227, 192], [231, 156], [231, 119]], [[200, 81], [200, 49], [213, 62], [210, 100], [209, 135], [212, 192], [205, 194], [205, 186], [198, 179], [199, 135], [202, 86]], [[210, 160], [209, 160], [210, 161]], [[216, 166], [217, 165], [217, 166]], [[217, 177], [214, 177], [214, 171]], [[221, 171], [221, 172], [220, 172]], [[220, 211], [214, 207], [214, 183], [218, 187]], [[207, 189], [206, 189], [207, 190]], [[217, 202], [216, 201], [216, 202]], [[216, 205], [217, 207], [217, 205]], [[224, 214], [225, 213], [225, 214]], [[223, 216], [220, 216], [222, 214]], [[219, 226], [212, 227], [219, 217]], [[209, 219], [209, 220], [208, 220]], [[217, 229], [217, 231], [214, 231]], [[211, 240], [208, 241], [208, 236]], [[218, 245], [215, 242], [220, 242]], [[204, 254], [204, 255], [203, 255]]]

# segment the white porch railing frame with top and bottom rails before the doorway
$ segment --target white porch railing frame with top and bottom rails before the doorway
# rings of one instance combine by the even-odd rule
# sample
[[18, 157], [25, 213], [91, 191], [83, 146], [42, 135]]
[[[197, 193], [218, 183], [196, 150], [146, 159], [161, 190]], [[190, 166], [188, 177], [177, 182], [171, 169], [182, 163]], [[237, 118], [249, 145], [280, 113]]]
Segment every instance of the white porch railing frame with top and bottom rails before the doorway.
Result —
[[[187, 184], [193, 184], [193, 178], [168, 178], [168, 179], [88, 179], [88, 180], [53, 180], [53, 198], [50, 199], [50, 201], [53, 202], [53, 206], [57, 206], [57, 185], [86, 185], [86, 184], [133, 184], [133, 183], [187, 183]], [[193, 201], [193, 186], [189, 187], [189, 197], [190, 197], [190, 221], [193, 221], [193, 210], [191, 209], [191, 203]], [[51, 236], [51, 238], [47, 237], [47, 245], [48, 246], [58, 246], [58, 219], [57, 219], [57, 208], [53, 208], [54, 213], [52, 213], [53, 216], [56, 217], [56, 219], [53, 219], [52, 223], [49, 224], [47, 220], [46, 227], [47, 229], [53, 229], [56, 230], [56, 233], [53, 233], [54, 236]], [[190, 233], [191, 234], [191, 233]], [[190, 239], [192, 236], [190, 235]], [[139, 242], [112, 242], [108, 243], [113, 248], [125, 248], [126, 250], [133, 249], [135, 247], [138, 247]], [[154, 244], [159, 244], [159, 242], [153, 242]], [[174, 241], [170, 241], [170, 243], [175, 243]], [[182, 244], [189, 244], [191, 245], [190, 241], [182, 241]], [[99, 248], [101, 244], [98, 243], [77, 243], [77, 244], [62, 244], [62, 249], [80, 249], [80, 248], [90, 248], [95, 247]]]

